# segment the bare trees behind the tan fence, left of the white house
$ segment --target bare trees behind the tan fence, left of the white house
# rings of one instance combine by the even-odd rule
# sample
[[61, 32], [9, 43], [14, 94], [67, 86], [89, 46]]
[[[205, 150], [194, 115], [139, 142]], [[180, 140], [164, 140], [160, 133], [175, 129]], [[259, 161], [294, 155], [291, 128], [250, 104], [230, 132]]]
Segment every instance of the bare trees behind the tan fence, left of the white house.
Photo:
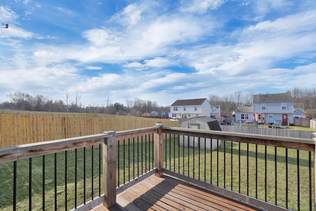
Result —
[[169, 107], [159, 106], [156, 101], [142, 100], [135, 98], [134, 100], [125, 100], [122, 103], [112, 103], [109, 97], [106, 105], [100, 106], [91, 103], [84, 106], [80, 103], [81, 95], [77, 92], [76, 96], [71, 100], [69, 92], [66, 91], [65, 96], [59, 100], [51, 100], [47, 96], [41, 94], [30, 95], [21, 91], [17, 91], [7, 95], [7, 101], [0, 103], [0, 109], [22, 110], [22, 111], [43, 111], [43, 112], [74, 112], [74, 113], [99, 113], [99, 114], [115, 114], [129, 116], [149, 116], [152, 111], [169, 111]]

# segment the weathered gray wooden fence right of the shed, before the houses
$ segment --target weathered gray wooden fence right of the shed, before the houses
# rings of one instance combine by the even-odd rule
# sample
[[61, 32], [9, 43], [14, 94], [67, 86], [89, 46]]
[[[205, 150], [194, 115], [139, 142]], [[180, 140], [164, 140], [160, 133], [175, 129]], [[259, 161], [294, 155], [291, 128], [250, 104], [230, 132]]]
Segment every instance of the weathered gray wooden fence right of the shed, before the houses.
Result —
[[309, 138], [313, 139], [312, 131], [280, 129], [280, 128], [264, 128], [264, 127], [239, 127], [239, 126], [222, 126], [222, 131], [225, 132], [240, 132], [259, 135], [275, 135], [293, 138]]

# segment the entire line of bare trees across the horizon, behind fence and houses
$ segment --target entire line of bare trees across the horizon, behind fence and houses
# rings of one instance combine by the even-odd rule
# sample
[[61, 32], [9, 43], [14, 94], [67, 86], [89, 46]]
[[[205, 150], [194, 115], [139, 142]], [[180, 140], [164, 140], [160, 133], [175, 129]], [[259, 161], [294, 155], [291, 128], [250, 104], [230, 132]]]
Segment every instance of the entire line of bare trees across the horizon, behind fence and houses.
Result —
[[[300, 89], [293, 88], [287, 90], [290, 92], [294, 103], [303, 103], [305, 112], [308, 117], [316, 119], [316, 88]], [[238, 106], [243, 106], [247, 103], [252, 103], [254, 90], [248, 92], [237, 91], [233, 94], [227, 94], [219, 97], [218, 95], [210, 94], [208, 101], [211, 106], [220, 106], [221, 116], [232, 117]], [[71, 100], [73, 98], [73, 100]], [[106, 105], [98, 105], [90, 103], [84, 106], [80, 103], [81, 95], [77, 92], [76, 96], [72, 97], [66, 91], [65, 96], [59, 100], [51, 100], [47, 96], [36, 94], [34, 96], [24, 92], [14, 92], [7, 95], [7, 101], [0, 103], [0, 109], [11, 110], [26, 110], [26, 111], [44, 111], [44, 112], [76, 112], [76, 113], [100, 113], [100, 114], [116, 114], [129, 116], [149, 116], [152, 111], [167, 111], [170, 107], [159, 106], [157, 101], [142, 100], [135, 98], [134, 100], [125, 99], [125, 103], [115, 102], [109, 99], [106, 100]]]

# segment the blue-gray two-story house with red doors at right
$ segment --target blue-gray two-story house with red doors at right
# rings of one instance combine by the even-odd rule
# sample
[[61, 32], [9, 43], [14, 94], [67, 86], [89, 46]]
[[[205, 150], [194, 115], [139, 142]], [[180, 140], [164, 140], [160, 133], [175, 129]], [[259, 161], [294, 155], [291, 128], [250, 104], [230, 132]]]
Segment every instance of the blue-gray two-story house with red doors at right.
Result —
[[294, 101], [291, 93], [253, 95], [253, 113], [259, 124], [293, 124]]

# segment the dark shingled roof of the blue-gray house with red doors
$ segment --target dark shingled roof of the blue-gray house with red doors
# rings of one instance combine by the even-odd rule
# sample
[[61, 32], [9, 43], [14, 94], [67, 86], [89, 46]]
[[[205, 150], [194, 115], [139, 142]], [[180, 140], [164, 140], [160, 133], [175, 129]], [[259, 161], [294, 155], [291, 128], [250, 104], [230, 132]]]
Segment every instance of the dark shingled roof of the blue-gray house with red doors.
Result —
[[253, 95], [253, 103], [270, 103], [270, 102], [293, 102], [291, 93], [277, 94], [255, 94]]

